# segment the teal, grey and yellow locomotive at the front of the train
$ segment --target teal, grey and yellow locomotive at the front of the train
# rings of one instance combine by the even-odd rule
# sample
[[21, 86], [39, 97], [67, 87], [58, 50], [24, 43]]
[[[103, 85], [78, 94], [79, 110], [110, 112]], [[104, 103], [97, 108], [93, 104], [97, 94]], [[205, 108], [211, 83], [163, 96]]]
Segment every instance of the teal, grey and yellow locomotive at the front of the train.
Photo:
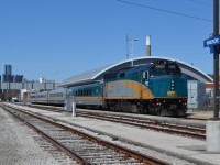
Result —
[[175, 62], [156, 61], [107, 74], [103, 100], [110, 110], [185, 116], [187, 79]]

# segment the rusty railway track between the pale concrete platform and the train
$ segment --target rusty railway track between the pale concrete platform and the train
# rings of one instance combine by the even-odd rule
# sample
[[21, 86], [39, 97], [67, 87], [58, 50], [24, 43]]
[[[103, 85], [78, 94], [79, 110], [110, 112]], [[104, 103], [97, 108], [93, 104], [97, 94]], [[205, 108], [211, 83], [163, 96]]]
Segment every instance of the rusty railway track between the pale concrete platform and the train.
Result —
[[[61, 108], [52, 108], [52, 107], [42, 107], [42, 106], [31, 106], [34, 108], [40, 108], [50, 111], [63, 112]], [[193, 139], [206, 140], [206, 128], [196, 128], [196, 127], [186, 127], [180, 124], [167, 123], [158, 120], [148, 120], [144, 118], [135, 118], [129, 116], [117, 116], [117, 114], [106, 114], [106, 113], [97, 113], [94, 111], [77, 111], [77, 116], [85, 118], [94, 118], [99, 120], [106, 120], [111, 122], [118, 122], [123, 124], [130, 124], [133, 127], [140, 127], [143, 129], [150, 129], [161, 132], [166, 132], [170, 134], [177, 134], [182, 136], [188, 136]], [[188, 119], [187, 119], [188, 120]]]

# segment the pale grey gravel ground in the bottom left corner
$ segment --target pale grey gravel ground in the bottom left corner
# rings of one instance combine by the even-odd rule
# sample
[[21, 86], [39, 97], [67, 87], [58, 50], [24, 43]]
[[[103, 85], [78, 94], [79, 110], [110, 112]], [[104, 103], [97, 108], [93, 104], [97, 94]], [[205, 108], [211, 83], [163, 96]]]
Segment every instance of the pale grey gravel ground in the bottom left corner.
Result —
[[[0, 108], [0, 164], [1, 165], [73, 165], [73, 161], [56, 151], [41, 147], [50, 145], [29, 127], [9, 116]], [[40, 139], [36, 141], [36, 139]], [[56, 152], [52, 154], [50, 152]], [[58, 156], [57, 156], [58, 155]], [[62, 156], [61, 156], [62, 155]], [[66, 156], [66, 157], [65, 157]], [[59, 160], [57, 158], [59, 157]]]

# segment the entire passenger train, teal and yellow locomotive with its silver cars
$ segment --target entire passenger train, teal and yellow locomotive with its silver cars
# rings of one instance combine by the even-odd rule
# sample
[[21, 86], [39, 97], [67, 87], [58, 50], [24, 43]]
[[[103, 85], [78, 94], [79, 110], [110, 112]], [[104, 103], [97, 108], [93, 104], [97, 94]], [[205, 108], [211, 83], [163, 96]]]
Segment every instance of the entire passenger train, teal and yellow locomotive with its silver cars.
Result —
[[186, 116], [187, 78], [172, 61], [156, 61], [107, 73], [103, 81], [68, 89], [34, 94], [31, 102], [64, 103], [75, 99], [76, 106], [101, 107], [157, 116]]

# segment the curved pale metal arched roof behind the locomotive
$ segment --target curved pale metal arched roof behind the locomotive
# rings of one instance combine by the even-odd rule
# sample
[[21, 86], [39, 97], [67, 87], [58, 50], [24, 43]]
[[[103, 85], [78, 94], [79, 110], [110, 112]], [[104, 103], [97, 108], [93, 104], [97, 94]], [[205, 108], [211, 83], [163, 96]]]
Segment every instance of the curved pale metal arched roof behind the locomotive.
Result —
[[139, 58], [122, 61], [122, 62], [119, 62], [116, 64], [107, 65], [107, 66], [103, 66], [100, 68], [91, 69], [89, 72], [85, 72], [85, 73], [75, 75], [75, 76], [69, 77], [66, 80], [64, 80], [59, 85], [59, 87], [68, 88], [68, 87], [77, 86], [77, 85], [102, 81], [103, 75], [106, 73], [129, 67], [129, 66], [131, 66], [132, 61], [133, 61], [133, 65], [135, 66], [135, 65], [144, 65], [147, 63], [153, 63], [154, 61], [158, 61], [158, 59], [167, 59], [167, 61], [176, 62], [179, 65], [182, 73], [185, 74], [189, 79], [195, 79], [195, 80], [202, 81], [202, 82], [213, 81], [213, 79], [210, 76], [208, 76], [207, 74], [202, 73], [198, 68], [196, 68], [191, 65], [188, 65], [184, 62], [167, 58], [167, 57], [144, 56], [144, 57], [139, 57]]

